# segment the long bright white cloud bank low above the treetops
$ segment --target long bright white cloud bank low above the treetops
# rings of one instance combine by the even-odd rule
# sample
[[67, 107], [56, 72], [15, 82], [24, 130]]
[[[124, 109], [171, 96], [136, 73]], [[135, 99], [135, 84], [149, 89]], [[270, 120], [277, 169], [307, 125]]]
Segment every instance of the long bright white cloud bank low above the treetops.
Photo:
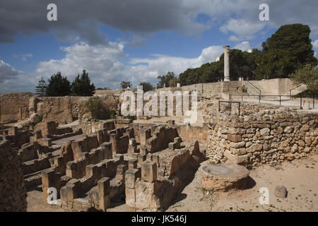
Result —
[[[79, 42], [69, 47], [61, 47], [61, 50], [66, 52], [65, 57], [42, 61], [37, 65], [37, 69], [30, 73], [30, 76], [25, 77], [28, 83], [32, 81], [33, 85], [24, 87], [23, 91], [28, 89], [32, 92], [41, 76], [48, 79], [52, 74], [61, 71], [62, 76], [67, 76], [69, 81], [73, 81], [83, 69], [88, 71], [91, 81], [97, 88], [119, 88], [119, 83], [127, 80], [131, 81], [134, 87], [143, 81], [155, 85], [158, 83], [157, 77], [167, 71], [174, 71], [176, 75], [179, 75], [188, 68], [216, 61], [217, 57], [223, 53], [223, 47], [211, 46], [203, 49], [200, 56], [196, 58], [151, 54], [148, 58], [133, 58], [129, 64], [125, 65], [120, 61], [122, 57], [126, 57], [124, 44], [121, 42], [110, 42], [106, 46]], [[17, 83], [23, 83], [23, 81], [17, 81]]]

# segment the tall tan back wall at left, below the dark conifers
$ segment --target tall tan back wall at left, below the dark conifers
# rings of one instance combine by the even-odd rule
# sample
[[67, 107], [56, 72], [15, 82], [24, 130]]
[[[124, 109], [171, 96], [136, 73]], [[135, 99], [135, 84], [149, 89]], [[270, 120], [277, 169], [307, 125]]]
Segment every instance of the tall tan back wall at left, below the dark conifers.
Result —
[[[35, 98], [36, 97], [36, 98]], [[100, 95], [108, 110], [119, 109], [119, 95]], [[37, 97], [33, 93], [8, 93], [0, 96], [0, 123], [28, 119], [34, 113], [44, 121], [69, 123], [74, 119], [88, 120], [86, 102], [90, 97]]]

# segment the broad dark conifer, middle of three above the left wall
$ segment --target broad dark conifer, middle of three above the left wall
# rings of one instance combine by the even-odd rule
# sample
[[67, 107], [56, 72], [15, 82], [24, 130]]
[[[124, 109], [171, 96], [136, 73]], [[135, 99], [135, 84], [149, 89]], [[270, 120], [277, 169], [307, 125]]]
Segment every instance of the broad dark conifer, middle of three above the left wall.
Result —
[[57, 72], [47, 81], [47, 96], [61, 97], [71, 93], [71, 84], [66, 77], [61, 76], [61, 72]]

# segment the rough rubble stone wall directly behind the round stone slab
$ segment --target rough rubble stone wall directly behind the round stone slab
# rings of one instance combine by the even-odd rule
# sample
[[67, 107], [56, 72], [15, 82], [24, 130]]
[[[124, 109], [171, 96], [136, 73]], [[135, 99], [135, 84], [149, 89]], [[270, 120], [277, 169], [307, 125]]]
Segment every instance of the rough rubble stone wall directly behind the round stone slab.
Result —
[[213, 161], [257, 167], [318, 154], [318, 114], [289, 108], [257, 111], [249, 104], [241, 109], [240, 115], [213, 113], [208, 136]]

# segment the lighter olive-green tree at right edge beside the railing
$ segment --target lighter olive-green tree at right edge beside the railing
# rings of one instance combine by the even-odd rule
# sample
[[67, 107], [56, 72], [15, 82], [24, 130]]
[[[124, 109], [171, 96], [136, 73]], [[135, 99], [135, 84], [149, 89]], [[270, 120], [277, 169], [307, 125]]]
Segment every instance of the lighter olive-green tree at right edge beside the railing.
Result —
[[297, 84], [307, 85], [307, 90], [310, 92], [318, 91], [318, 68], [307, 64], [302, 69], [298, 69], [295, 73], [290, 75], [290, 78]]

